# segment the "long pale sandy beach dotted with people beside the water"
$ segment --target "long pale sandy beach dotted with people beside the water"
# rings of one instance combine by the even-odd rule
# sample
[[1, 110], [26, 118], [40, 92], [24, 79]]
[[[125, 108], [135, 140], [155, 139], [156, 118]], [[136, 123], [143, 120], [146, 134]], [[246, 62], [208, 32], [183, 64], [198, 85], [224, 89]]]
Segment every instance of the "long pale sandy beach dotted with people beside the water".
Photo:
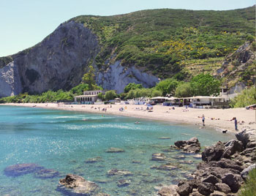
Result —
[[[238, 120], [238, 130], [242, 127], [256, 128], [255, 110], [246, 110], [245, 108], [230, 109], [197, 109], [197, 108], [178, 108], [173, 110], [170, 106], [154, 105], [153, 110], [148, 112], [145, 105], [64, 105], [57, 103], [8, 103], [1, 105], [12, 105], [22, 107], [46, 108], [52, 110], [73, 110], [86, 113], [102, 113], [118, 116], [130, 116], [134, 118], [146, 118], [157, 121], [168, 121], [178, 124], [194, 124], [202, 126], [202, 116], [206, 117], [205, 127], [214, 127], [219, 131], [228, 130], [229, 132], [237, 132], [235, 130], [233, 117]], [[102, 110], [105, 108], [106, 110]], [[120, 111], [120, 108], [124, 110]]]

